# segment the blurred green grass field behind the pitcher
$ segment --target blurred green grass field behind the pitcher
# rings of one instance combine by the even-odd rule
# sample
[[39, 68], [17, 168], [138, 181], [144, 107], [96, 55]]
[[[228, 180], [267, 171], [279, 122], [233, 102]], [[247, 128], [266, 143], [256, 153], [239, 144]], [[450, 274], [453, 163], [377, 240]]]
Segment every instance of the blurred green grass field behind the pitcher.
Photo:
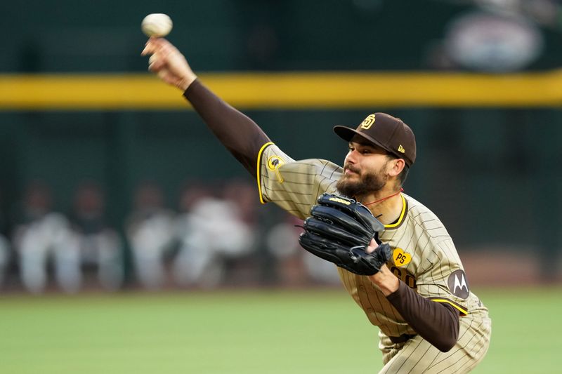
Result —
[[[476, 289], [492, 345], [474, 373], [560, 373], [562, 288]], [[0, 373], [377, 373], [344, 290], [0, 296]]]

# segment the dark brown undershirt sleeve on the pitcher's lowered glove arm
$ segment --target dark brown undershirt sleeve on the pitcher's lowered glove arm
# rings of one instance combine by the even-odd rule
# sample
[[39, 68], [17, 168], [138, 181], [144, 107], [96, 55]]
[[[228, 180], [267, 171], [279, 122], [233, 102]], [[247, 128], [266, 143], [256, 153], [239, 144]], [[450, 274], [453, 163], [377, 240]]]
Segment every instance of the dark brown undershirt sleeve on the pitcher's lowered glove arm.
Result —
[[455, 346], [459, 338], [457, 309], [422, 298], [403, 281], [398, 290], [386, 298], [422, 338], [441, 352], [448, 352]]

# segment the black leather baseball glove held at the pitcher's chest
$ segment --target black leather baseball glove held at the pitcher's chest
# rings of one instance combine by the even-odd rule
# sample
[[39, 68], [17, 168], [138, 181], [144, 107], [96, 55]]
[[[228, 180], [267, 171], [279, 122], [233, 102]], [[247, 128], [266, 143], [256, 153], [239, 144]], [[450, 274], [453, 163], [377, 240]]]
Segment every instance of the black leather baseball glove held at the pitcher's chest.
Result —
[[[353, 199], [320, 195], [303, 228], [299, 243], [306, 251], [355, 274], [376, 274], [392, 256], [390, 246], [379, 242], [384, 225]], [[379, 246], [367, 253], [372, 239]]]

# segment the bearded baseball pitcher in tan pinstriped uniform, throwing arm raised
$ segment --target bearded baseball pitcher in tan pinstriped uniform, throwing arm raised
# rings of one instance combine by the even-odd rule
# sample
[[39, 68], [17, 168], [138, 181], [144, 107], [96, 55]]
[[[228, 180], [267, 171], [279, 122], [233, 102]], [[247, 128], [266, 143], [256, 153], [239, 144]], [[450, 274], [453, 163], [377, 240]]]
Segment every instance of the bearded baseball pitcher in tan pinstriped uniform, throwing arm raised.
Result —
[[261, 202], [305, 220], [301, 246], [337, 266], [351, 298], [379, 327], [380, 373], [466, 373], [483, 359], [488, 309], [471, 293], [443, 223], [402, 190], [416, 159], [409, 126], [370, 114], [357, 128], [334, 127], [348, 144], [343, 168], [297, 161], [209, 91], [169, 41], [150, 38], [143, 55], [254, 175]]

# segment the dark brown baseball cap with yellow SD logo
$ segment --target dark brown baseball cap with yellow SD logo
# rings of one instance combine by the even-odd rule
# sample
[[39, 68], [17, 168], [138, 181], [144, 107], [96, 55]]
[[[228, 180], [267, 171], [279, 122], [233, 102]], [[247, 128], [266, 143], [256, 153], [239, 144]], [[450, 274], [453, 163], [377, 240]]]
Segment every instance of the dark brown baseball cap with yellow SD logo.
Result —
[[360, 135], [374, 145], [404, 159], [407, 166], [412, 166], [416, 161], [416, 138], [412, 129], [401, 119], [389, 114], [369, 114], [357, 129], [334, 126], [334, 133], [348, 142], [353, 135]]

